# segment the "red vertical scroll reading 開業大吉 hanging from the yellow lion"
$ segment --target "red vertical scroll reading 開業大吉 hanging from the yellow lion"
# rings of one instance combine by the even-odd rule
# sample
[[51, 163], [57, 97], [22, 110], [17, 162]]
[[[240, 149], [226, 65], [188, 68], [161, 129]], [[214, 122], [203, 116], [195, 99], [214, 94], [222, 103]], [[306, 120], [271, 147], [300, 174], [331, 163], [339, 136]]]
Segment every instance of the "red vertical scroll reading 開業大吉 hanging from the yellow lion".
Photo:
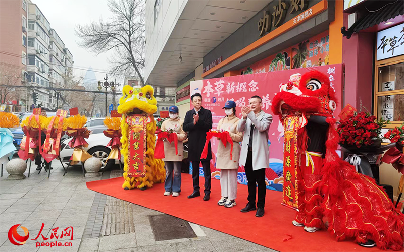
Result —
[[146, 123], [148, 116], [133, 115], [126, 119], [129, 124], [128, 136], [128, 177], [146, 176]]

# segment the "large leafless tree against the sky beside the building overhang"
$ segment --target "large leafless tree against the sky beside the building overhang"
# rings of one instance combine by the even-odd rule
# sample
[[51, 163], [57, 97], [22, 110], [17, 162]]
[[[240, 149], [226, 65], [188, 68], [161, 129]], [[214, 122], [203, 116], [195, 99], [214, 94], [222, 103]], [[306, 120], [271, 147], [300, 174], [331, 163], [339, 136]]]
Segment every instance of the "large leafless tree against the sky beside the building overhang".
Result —
[[79, 45], [97, 54], [114, 50], [112, 73], [137, 75], [144, 85], [144, 0], [108, 0], [112, 16], [76, 27]]

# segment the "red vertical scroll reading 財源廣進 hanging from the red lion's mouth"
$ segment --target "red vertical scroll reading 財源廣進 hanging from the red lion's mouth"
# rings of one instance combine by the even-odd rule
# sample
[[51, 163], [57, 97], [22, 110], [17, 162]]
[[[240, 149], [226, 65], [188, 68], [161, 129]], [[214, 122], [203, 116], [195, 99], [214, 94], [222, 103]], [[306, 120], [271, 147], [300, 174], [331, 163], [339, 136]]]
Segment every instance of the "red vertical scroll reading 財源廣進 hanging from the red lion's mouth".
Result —
[[283, 198], [282, 204], [297, 209], [297, 131], [299, 129], [299, 117], [289, 116], [283, 122]]

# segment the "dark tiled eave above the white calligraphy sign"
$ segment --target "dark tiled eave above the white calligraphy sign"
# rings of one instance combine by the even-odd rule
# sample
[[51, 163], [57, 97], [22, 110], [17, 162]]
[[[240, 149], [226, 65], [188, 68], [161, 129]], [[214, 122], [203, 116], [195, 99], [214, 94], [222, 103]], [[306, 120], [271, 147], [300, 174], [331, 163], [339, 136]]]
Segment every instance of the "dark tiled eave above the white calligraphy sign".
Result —
[[346, 27], [341, 28], [341, 33], [350, 38], [352, 34], [359, 32], [361, 30], [367, 29], [374, 25], [386, 22], [389, 19], [395, 18], [399, 15], [404, 15], [404, 0], [397, 0], [390, 4], [381, 7], [377, 11], [366, 11], [357, 22], [355, 22], [348, 30]]

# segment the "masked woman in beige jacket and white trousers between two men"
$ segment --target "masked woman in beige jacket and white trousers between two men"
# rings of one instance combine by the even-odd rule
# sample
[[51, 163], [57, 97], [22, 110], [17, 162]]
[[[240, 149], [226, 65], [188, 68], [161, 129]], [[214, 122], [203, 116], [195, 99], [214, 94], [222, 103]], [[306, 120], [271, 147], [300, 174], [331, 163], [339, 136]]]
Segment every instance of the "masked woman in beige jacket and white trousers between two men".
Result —
[[230, 208], [236, 205], [238, 158], [241, 149], [239, 142], [243, 140], [243, 134], [237, 132], [237, 124], [240, 119], [236, 117], [236, 103], [227, 101], [224, 109], [226, 116], [220, 119], [217, 129], [230, 133], [233, 140], [233, 152], [232, 159], [230, 159], [231, 145], [227, 143], [224, 147], [223, 143], [219, 141], [216, 168], [220, 169], [222, 198], [218, 201], [218, 205]]

